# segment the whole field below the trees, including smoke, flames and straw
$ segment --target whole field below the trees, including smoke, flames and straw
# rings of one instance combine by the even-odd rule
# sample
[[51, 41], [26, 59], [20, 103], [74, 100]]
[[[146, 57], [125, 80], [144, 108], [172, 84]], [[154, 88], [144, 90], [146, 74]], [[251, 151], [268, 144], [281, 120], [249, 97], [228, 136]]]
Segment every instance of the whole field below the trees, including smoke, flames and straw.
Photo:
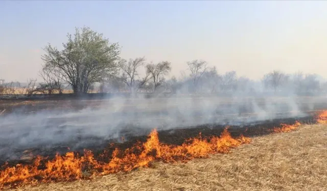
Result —
[[0, 101], [0, 189], [323, 190], [324, 99]]

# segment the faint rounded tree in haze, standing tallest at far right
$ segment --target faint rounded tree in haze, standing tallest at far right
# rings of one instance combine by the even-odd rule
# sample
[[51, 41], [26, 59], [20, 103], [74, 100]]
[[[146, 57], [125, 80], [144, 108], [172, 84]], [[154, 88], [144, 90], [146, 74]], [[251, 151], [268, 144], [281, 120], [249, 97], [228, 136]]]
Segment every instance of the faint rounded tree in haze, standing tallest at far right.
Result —
[[289, 76], [281, 71], [274, 70], [264, 75], [263, 81], [266, 87], [272, 87], [274, 92], [277, 88], [284, 85], [289, 79]]

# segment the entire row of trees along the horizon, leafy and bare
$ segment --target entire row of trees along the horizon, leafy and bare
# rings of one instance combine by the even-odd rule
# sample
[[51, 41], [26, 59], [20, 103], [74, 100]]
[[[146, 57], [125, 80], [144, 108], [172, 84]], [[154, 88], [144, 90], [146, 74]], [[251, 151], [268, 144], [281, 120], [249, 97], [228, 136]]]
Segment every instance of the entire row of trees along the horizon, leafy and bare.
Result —
[[[32, 88], [27, 94], [63, 93], [66, 86], [75, 94], [85, 94], [94, 90], [96, 84], [100, 84], [98, 92], [132, 95], [137, 92], [307, 95], [327, 89], [327, 84], [320, 83], [315, 74], [297, 72], [290, 75], [275, 70], [264, 74], [260, 81], [253, 81], [238, 77], [235, 71], [220, 74], [217, 67], [210, 67], [203, 60], [187, 62], [188, 70], [182, 71], [178, 79], [175, 76], [166, 79], [172, 69], [171, 62], [147, 62], [145, 57], [122, 59], [119, 43], [110, 43], [103, 34], [86, 26], [76, 28], [74, 35], [68, 34], [62, 46], [61, 50], [50, 43], [45, 46], [41, 57], [44, 64], [39, 71], [43, 81], [37, 85], [36, 79], [29, 80], [28, 86]], [[142, 69], [144, 74], [141, 74]]]

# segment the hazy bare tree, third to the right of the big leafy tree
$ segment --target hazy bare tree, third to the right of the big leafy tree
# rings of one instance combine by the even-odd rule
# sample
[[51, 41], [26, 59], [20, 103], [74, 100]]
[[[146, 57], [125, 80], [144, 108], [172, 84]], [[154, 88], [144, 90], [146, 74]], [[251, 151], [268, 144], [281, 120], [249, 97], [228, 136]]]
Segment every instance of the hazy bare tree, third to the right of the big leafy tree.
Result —
[[189, 70], [191, 71], [191, 79], [193, 81], [194, 91], [196, 91], [199, 79], [207, 69], [207, 63], [202, 60], [193, 60], [191, 62], [187, 62], [187, 64], [189, 66]]

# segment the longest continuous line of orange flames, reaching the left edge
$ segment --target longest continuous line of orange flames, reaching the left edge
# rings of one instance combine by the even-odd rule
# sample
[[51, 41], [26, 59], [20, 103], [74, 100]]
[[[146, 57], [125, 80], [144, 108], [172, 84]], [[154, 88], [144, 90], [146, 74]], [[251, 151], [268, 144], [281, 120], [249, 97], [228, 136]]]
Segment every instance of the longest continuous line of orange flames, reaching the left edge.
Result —
[[250, 141], [250, 138], [243, 136], [232, 138], [227, 129], [224, 129], [220, 137], [194, 138], [180, 146], [175, 146], [160, 143], [158, 132], [153, 130], [147, 142], [143, 144], [137, 143], [124, 151], [116, 148], [111, 156], [104, 153], [102, 158], [111, 158], [109, 162], [97, 160], [91, 151], [85, 150], [84, 156], [68, 152], [64, 156], [57, 154], [51, 160], [37, 156], [32, 165], [8, 167], [7, 164], [0, 171], [0, 188], [128, 172], [138, 167], [149, 167], [155, 160], [186, 162], [193, 158], [209, 157], [209, 154], [227, 153], [231, 148]]

